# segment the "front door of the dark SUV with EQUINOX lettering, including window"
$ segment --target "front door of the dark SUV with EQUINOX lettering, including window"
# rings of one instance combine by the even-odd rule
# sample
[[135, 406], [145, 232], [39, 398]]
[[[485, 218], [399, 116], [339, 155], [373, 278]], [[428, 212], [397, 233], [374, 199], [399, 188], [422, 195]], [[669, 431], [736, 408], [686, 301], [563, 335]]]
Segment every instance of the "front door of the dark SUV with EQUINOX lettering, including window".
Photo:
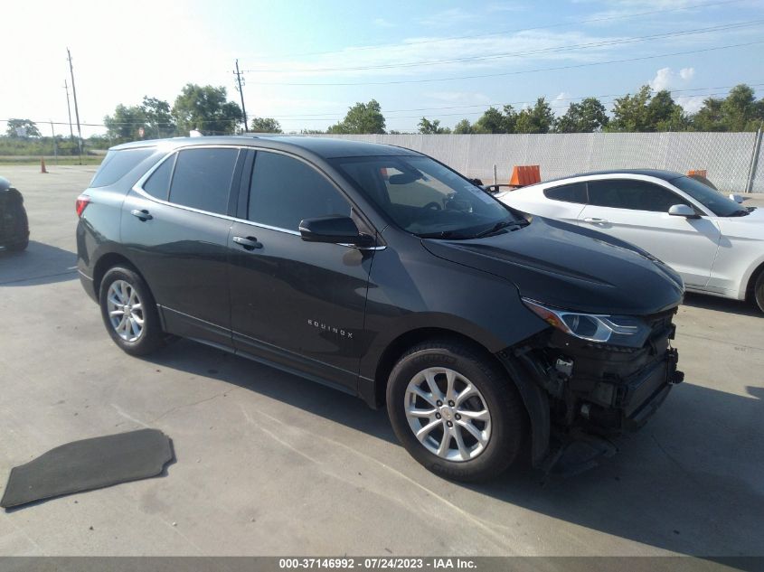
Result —
[[355, 390], [374, 250], [305, 242], [298, 231], [303, 219], [350, 216], [351, 203], [316, 166], [273, 151], [256, 153], [241, 186], [243, 220], [229, 241], [237, 351]]

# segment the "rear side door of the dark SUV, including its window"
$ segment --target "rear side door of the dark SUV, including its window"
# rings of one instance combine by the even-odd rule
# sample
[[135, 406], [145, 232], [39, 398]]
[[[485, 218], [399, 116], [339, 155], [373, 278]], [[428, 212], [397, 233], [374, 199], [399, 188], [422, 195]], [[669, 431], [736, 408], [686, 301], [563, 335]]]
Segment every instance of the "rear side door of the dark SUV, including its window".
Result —
[[122, 211], [128, 257], [162, 306], [167, 329], [222, 345], [231, 344], [228, 215], [239, 155], [220, 146], [174, 153], [128, 193]]

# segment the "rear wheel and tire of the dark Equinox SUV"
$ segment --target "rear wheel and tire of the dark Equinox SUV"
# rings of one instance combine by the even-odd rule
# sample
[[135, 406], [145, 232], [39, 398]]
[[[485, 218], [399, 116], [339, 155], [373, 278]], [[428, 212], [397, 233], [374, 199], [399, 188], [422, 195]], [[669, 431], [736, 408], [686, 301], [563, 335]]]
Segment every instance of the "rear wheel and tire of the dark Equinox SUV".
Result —
[[147, 355], [164, 345], [154, 296], [129, 267], [113, 267], [101, 280], [101, 317], [111, 339], [124, 352]]

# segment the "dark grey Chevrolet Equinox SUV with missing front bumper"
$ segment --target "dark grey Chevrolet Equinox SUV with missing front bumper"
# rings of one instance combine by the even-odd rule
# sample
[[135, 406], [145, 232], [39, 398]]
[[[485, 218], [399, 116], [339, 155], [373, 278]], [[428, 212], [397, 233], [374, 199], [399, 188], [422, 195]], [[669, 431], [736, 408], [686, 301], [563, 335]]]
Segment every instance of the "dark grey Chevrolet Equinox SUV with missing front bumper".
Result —
[[682, 280], [525, 218], [408, 149], [299, 136], [119, 145], [77, 201], [78, 267], [125, 352], [183, 336], [386, 404], [458, 480], [641, 426], [682, 379]]

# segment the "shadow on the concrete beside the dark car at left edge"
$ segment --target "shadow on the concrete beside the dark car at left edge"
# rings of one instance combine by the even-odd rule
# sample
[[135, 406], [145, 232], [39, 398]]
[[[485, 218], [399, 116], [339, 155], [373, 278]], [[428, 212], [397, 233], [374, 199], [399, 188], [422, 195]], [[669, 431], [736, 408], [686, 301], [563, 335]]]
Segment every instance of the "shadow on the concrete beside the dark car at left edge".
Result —
[[30, 240], [21, 252], [0, 252], [0, 286], [38, 286], [77, 277], [77, 255]]

